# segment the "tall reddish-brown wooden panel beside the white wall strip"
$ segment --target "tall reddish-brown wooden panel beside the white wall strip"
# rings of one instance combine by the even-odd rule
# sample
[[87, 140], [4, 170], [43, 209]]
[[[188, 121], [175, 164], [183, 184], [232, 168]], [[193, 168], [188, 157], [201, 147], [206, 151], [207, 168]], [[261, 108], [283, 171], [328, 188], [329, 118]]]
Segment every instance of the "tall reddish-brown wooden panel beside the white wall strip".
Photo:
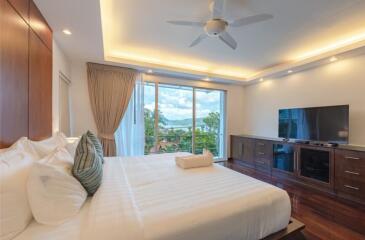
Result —
[[52, 135], [52, 52], [30, 31], [29, 138]]

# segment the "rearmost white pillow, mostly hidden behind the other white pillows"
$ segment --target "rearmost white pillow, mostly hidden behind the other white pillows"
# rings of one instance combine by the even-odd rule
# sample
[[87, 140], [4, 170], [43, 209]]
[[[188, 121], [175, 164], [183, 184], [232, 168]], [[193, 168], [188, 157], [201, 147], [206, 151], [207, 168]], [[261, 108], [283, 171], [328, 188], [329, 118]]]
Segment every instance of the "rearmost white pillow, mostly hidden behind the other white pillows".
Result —
[[59, 132], [56, 135], [42, 141], [31, 141], [33, 148], [40, 157], [45, 157], [56, 150], [58, 147], [64, 147], [67, 144], [66, 137]]

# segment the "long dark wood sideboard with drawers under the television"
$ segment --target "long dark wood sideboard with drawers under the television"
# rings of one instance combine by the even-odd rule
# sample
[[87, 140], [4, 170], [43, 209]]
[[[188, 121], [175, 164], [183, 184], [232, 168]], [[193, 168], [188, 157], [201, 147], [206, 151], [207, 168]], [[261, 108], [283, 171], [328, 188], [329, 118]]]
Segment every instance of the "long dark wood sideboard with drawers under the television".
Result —
[[234, 135], [230, 160], [247, 171], [365, 204], [365, 147], [327, 147]]

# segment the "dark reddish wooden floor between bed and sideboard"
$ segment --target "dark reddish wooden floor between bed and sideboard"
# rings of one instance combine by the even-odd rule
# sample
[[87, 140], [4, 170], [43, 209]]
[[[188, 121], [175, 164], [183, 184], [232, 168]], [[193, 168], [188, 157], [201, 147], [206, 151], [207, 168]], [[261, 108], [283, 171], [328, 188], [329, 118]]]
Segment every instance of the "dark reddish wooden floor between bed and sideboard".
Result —
[[292, 217], [306, 225], [296, 239], [365, 240], [365, 206], [338, 200], [328, 194], [291, 183], [272, 180], [228, 162], [226, 167], [285, 189], [292, 203]]

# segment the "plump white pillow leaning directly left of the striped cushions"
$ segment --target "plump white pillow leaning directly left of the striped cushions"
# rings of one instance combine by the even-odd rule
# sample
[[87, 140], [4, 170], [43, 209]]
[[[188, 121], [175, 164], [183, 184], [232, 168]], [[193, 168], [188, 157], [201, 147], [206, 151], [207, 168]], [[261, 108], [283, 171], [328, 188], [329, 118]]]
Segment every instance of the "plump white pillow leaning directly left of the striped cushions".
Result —
[[28, 197], [35, 220], [59, 225], [75, 216], [87, 193], [71, 175], [73, 159], [65, 148], [34, 163], [28, 178]]

